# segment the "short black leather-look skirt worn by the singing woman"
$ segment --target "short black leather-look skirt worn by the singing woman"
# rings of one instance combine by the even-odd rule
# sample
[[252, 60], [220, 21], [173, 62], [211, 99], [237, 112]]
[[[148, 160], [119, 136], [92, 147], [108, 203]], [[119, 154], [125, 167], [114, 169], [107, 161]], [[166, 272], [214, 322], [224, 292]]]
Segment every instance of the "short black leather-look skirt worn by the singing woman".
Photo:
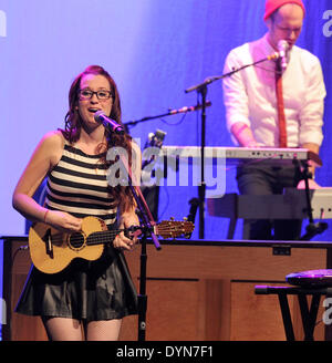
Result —
[[86, 322], [122, 319], [137, 313], [137, 293], [124, 255], [105, 246], [98, 260], [74, 259], [54, 274], [32, 266], [15, 311]]

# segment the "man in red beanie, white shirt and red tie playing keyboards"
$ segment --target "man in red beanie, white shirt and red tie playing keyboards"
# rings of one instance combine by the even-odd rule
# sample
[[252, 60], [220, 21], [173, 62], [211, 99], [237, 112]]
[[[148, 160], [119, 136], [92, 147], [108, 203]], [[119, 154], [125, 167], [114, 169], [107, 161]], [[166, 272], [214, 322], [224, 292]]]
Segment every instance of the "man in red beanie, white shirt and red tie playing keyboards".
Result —
[[[323, 139], [323, 108], [325, 86], [320, 61], [310, 52], [294, 45], [305, 9], [302, 0], [267, 0], [264, 21], [267, 34], [234, 49], [227, 56], [225, 73], [268, 58], [279, 51], [284, 40], [289, 51], [287, 68], [280, 61], [267, 61], [249, 66], [224, 80], [227, 127], [235, 143], [245, 147], [304, 147], [319, 153]], [[286, 139], [278, 116], [276, 74], [281, 75]], [[314, 175], [314, 169], [310, 172]], [[297, 187], [301, 176], [295, 166], [272, 167], [246, 165], [238, 168], [241, 194], [281, 194], [284, 187]], [[279, 225], [279, 226], [278, 226]], [[274, 236], [272, 236], [274, 228]], [[299, 238], [301, 222], [257, 220], [250, 222], [249, 239], [291, 240]]]

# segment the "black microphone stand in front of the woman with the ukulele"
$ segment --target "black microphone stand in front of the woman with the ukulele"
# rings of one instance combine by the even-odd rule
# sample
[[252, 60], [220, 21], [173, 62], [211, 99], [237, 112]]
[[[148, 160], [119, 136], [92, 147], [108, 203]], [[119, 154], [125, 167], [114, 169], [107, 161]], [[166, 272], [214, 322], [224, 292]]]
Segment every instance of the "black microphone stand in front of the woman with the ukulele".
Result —
[[146, 200], [142, 194], [141, 188], [138, 187], [137, 180], [132, 173], [132, 168], [128, 164], [127, 158], [123, 153], [118, 153], [120, 159], [126, 170], [128, 185], [131, 187], [132, 194], [137, 204], [139, 211], [141, 227], [134, 227], [133, 230], [142, 230], [143, 238], [141, 239], [141, 277], [139, 277], [139, 294], [138, 294], [138, 341], [145, 341], [146, 335], [146, 310], [147, 310], [147, 295], [146, 295], [146, 239], [151, 237], [156, 249], [160, 250], [160, 243], [153, 232], [154, 226], [156, 222], [148, 209]]

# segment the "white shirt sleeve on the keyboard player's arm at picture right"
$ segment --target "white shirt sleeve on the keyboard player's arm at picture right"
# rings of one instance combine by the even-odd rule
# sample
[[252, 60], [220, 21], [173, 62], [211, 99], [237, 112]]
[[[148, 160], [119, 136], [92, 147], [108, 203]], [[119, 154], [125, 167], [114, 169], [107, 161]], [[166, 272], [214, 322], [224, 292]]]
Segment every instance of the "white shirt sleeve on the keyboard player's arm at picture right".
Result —
[[314, 143], [319, 146], [323, 141], [324, 97], [326, 95], [323, 72], [320, 61], [314, 58], [308, 72], [305, 102], [300, 110], [300, 145]]

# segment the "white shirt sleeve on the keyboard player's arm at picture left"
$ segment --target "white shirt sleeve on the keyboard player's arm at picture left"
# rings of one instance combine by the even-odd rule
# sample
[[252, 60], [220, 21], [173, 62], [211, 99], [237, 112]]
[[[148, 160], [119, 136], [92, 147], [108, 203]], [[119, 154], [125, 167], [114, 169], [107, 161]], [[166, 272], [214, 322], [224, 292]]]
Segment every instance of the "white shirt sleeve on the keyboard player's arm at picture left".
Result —
[[[234, 69], [240, 68], [240, 58], [238, 49], [232, 50], [226, 58], [224, 74], [231, 72]], [[236, 72], [222, 80], [224, 103], [226, 107], [227, 128], [234, 124], [242, 122], [250, 127], [248, 94], [243, 82], [243, 73]]]

